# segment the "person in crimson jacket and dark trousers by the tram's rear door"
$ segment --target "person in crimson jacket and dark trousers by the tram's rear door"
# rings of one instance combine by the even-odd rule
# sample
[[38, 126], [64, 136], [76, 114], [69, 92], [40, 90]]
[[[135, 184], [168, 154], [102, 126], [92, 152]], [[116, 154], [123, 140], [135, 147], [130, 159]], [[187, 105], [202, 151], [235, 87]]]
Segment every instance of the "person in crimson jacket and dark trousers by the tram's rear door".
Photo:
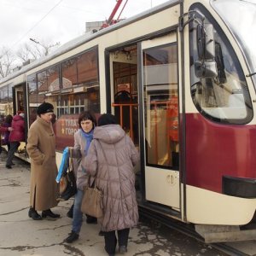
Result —
[[15, 114], [12, 120], [13, 131], [9, 134], [10, 148], [6, 160], [6, 168], [12, 168], [12, 161], [16, 150], [20, 146], [20, 142], [25, 142], [25, 122], [24, 113]]

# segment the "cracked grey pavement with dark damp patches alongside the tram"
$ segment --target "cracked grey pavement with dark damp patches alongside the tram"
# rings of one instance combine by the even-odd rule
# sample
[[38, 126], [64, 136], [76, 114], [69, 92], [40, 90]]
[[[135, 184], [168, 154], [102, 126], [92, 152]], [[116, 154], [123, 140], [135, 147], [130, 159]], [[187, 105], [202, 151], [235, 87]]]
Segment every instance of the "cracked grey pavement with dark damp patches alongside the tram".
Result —
[[[67, 244], [63, 240], [72, 228], [67, 211], [73, 200], [62, 201], [53, 212], [57, 220], [34, 221], [27, 215], [29, 209], [30, 165], [15, 158], [12, 169], [5, 168], [6, 153], [0, 155], [0, 255], [3, 256], [94, 256], [107, 255], [104, 238], [98, 236], [98, 224], [84, 222], [79, 240]], [[117, 255], [120, 255], [117, 253]], [[224, 256], [211, 246], [166, 228], [142, 220], [131, 230], [128, 253], [125, 255], [160, 256]]]

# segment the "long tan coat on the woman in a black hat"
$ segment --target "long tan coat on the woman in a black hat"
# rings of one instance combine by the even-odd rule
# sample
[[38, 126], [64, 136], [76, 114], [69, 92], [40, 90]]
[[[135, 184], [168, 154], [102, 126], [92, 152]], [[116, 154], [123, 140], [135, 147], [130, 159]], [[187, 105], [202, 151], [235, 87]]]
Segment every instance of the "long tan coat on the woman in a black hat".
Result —
[[55, 182], [55, 134], [52, 124], [38, 117], [28, 131], [26, 151], [31, 158], [30, 204], [37, 211], [57, 205], [58, 185]]

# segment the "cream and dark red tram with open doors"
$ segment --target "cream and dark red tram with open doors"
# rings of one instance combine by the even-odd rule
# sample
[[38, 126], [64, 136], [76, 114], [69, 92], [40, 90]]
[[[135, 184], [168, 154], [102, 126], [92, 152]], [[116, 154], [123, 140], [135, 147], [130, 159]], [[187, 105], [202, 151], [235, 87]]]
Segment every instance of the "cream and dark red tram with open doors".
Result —
[[0, 110], [24, 110], [29, 129], [53, 104], [58, 163], [81, 111], [113, 113], [141, 155], [141, 208], [208, 242], [253, 239], [255, 16], [250, 0], [171, 0], [2, 79]]

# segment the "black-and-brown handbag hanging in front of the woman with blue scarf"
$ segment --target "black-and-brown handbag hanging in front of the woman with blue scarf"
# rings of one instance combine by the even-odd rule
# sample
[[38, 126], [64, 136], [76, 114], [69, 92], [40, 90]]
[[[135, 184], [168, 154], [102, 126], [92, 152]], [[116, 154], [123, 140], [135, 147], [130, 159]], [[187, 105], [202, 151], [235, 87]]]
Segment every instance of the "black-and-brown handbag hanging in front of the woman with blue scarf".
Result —
[[67, 172], [63, 173], [60, 180], [60, 195], [57, 201], [67, 201], [77, 193], [76, 177], [73, 172], [72, 149], [69, 148]]

